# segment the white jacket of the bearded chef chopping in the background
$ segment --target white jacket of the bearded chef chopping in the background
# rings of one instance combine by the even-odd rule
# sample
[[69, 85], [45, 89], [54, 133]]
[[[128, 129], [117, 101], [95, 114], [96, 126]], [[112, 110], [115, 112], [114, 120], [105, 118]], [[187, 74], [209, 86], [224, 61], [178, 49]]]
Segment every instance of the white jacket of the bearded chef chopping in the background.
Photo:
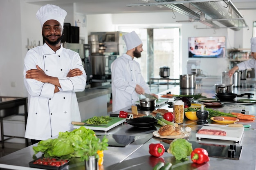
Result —
[[132, 106], [139, 100], [135, 92], [136, 84], [144, 88], [145, 93], [150, 93], [148, 84], [141, 75], [139, 63], [132, 57], [123, 54], [111, 64], [112, 79], [112, 112]]

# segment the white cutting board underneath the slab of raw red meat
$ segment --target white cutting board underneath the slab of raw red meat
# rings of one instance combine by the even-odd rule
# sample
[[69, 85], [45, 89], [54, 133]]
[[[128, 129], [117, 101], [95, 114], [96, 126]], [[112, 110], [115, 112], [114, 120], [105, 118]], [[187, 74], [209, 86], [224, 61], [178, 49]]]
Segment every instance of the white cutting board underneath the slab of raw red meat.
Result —
[[206, 139], [220, 139], [228, 141], [241, 141], [245, 128], [244, 127], [228, 127], [228, 126], [203, 126], [201, 129], [212, 129], [212, 130], [222, 130], [226, 132], [226, 136], [220, 135], [204, 135], [204, 134], [195, 134], [197, 138], [206, 138]]

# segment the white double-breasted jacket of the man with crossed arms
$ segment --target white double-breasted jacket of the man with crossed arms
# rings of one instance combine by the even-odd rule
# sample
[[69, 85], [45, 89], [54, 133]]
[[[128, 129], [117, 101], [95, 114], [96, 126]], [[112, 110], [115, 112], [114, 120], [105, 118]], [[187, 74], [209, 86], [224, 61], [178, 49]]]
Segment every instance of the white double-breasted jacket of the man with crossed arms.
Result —
[[[26, 71], [38, 65], [50, 76], [58, 77], [61, 88], [54, 93], [54, 85], [36, 79], [26, 79]], [[70, 69], [79, 68], [83, 75], [67, 77]], [[84, 91], [86, 73], [78, 53], [61, 46], [54, 52], [46, 43], [27, 52], [24, 82], [28, 95], [28, 118], [25, 138], [45, 140], [73, 128], [71, 121], [81, 121], [77, 91]]]

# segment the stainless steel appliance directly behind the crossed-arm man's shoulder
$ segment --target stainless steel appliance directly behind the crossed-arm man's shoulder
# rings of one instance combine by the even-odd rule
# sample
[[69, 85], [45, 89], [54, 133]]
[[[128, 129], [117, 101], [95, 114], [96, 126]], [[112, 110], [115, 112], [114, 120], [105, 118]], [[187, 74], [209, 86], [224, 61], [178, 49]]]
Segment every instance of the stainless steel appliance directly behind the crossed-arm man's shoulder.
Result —
[[[73, 50], [79, 53], [83, 68], [87, 75], [86, 85], [89, 88], [92, 82], [92, 62], [91, 62], [91, 47], [90, 44], [79, 44], [79, 43], [63, 43], [63, 47], [66, 49]], [[86, 87], [85, 87], [86, 88]]]

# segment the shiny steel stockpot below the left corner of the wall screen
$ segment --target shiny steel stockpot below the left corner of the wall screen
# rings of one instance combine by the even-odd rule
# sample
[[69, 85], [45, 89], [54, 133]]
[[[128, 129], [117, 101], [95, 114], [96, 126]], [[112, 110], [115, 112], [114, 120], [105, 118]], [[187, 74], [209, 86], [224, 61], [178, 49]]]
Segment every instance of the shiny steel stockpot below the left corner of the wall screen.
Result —
[[180, 88], [195, 88], [194, 74], [180, 75]]

